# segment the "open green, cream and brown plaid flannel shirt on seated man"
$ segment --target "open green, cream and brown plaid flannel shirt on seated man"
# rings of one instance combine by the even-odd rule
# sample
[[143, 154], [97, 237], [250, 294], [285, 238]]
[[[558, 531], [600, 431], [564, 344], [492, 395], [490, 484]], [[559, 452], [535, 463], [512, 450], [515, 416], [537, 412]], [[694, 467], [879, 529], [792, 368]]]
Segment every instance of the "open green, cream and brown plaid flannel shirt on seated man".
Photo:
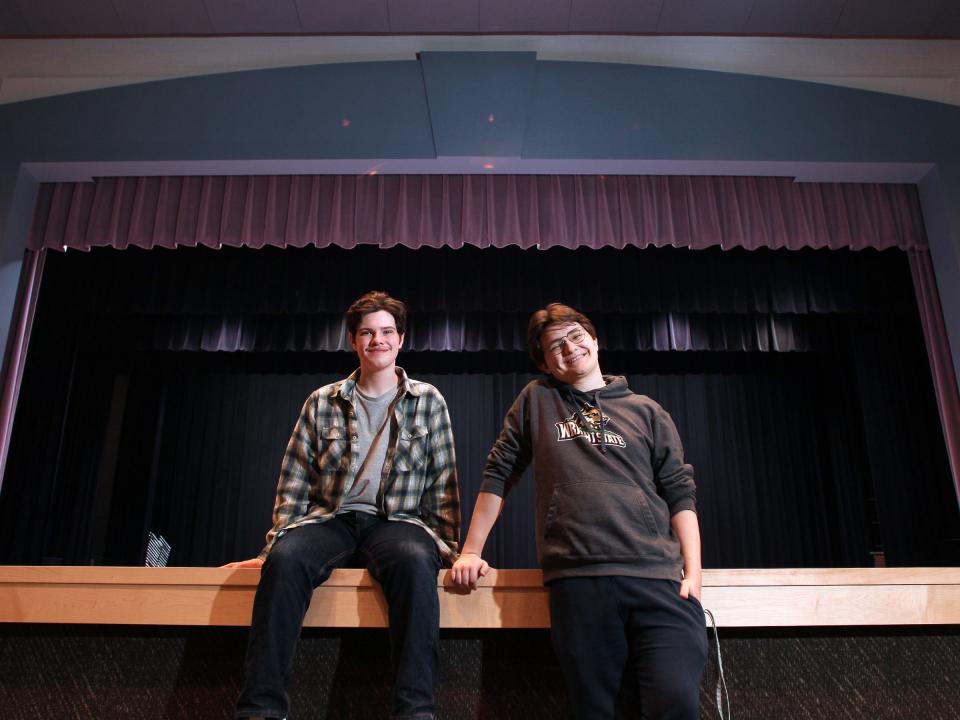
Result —
[[[399, 367], [397, 375], [399, 397], [377, 506], [389, 520], [425, 528], [452, 562], [460, 540], [460, 491], [447, 404], [433, 385], [409, 379]], [[334, 517], [353, 486], [363, 462], [353, 408], [358, 376], [359, 370], [325, 385], [304, 403], [284, 454], [273, 527], [260, 557], [278, 534]]]

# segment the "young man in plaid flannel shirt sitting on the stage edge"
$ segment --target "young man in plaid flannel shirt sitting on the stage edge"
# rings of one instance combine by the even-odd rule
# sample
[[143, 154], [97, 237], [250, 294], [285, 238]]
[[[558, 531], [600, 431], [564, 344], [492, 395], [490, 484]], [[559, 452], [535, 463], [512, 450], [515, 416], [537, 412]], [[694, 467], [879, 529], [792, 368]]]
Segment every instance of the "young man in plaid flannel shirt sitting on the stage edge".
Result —
[[371, 292], [346, 313], [360, 367], [313, 392], [284, 455], [238, 718], [284, 718], [313, 589], [362, 562], [389, 606], [392, 718], [432, 718], [439, 675], [437, 572], [460, 535], [453, 431], [443, 396], [398, 367], [407, 310]]

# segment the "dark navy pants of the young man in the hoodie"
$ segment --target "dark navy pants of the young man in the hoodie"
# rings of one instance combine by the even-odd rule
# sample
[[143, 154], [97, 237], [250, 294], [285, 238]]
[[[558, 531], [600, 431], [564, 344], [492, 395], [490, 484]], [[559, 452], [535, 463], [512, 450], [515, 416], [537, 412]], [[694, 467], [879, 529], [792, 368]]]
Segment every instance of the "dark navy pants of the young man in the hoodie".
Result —
[[700, 603], [679, 589], [671, 580], [620, 576], [550, 583], [551, 639], [575, 718], [615, 717], [628, 662], [642, 717], [699, 718], [707, 633]]

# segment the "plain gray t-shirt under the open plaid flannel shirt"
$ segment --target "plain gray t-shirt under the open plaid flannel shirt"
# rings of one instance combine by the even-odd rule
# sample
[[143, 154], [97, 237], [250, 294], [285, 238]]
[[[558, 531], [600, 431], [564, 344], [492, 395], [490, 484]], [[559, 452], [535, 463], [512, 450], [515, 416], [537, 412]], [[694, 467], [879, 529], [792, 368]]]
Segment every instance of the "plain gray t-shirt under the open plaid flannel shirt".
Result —
[[[380, 397], [372, 398], [360, 392], [360, 388], [353, 390], [354, 408], [357, 413], [357, 453], [358, 463], [367, 458], [363, 473], [353, 483], [340, 505], [340, 512], [351, 510], [376, 515], [377, 493], [380, 491], [380, 480], [383, 475], [383, 462], [387, 459], [387, 448], [390, 447], [390, 427], [387, 412], [390, 403], [397, 396], [396, 388], [391, 388]], [[370, 447], [374, 436], [380, 427], [387, 424], [377, 439], [377, 444]]]

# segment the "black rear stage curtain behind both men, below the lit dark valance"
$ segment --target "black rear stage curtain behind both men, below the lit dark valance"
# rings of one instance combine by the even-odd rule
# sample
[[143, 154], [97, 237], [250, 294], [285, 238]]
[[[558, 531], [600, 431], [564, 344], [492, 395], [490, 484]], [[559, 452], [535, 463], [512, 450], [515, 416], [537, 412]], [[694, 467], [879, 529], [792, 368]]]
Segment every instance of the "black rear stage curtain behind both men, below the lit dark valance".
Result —
[[[949, 544], [956, 504], [942, 442], [930, 435], [934, 409], [893, 422], [883, 408], [871, 424], [876, 408], [862, 409], [860, 386], [849, 382], [857, 371], [841, 371], [841, 361], [827, 355], [744, 353], [721, 363], [711, 354], [676, 355], [611, 353], [605, 363], [676, 420], [697, 471], [708, 567], [857, 566], [872, 551], [885, 552], [891, 564], [957, 561]], [[94, 374], [71, 403], [86, 412], [68, 416], [59, 472], [46, 463], [29, 479], [8, 476], [0, 506], [3, 561], [138, 564], [147, 529], [171, 541], [175, 564], [256, 554], [304, 398], [342, 377], [353, 361], [340, 354], [305, 368], [284, 355], [213, 359], [123, 358], [125, 417], [106, 515], [96, 512], [107, 492], [98, 474], [116, 380]], [[485, 357], [485, 372], [457, 367], [457, 356], [409, 353], [404, 362], [411, 372], [421, 368], [416, 377], [436, 385], [450, 405], [467, 523], [503, 414], [534, 375], [520, 369], [520, 356]], [[877, 365], [872, 372], [885, 372]], [[907, 399], [917, 384], [902, 388]], [[35, 422], [43, 419], [37, 413]], [[897, 431], [901, 457], [890, 462], [884, 452]], [[24, 467], [25, 458], [15, 457]], [[533, 490], [527, 479], [508, 499], [487, 548], [497, 566], [536, 565]], [[31, 514], [14, 510], [26, 510], [30, 498], [38, 505]]]

